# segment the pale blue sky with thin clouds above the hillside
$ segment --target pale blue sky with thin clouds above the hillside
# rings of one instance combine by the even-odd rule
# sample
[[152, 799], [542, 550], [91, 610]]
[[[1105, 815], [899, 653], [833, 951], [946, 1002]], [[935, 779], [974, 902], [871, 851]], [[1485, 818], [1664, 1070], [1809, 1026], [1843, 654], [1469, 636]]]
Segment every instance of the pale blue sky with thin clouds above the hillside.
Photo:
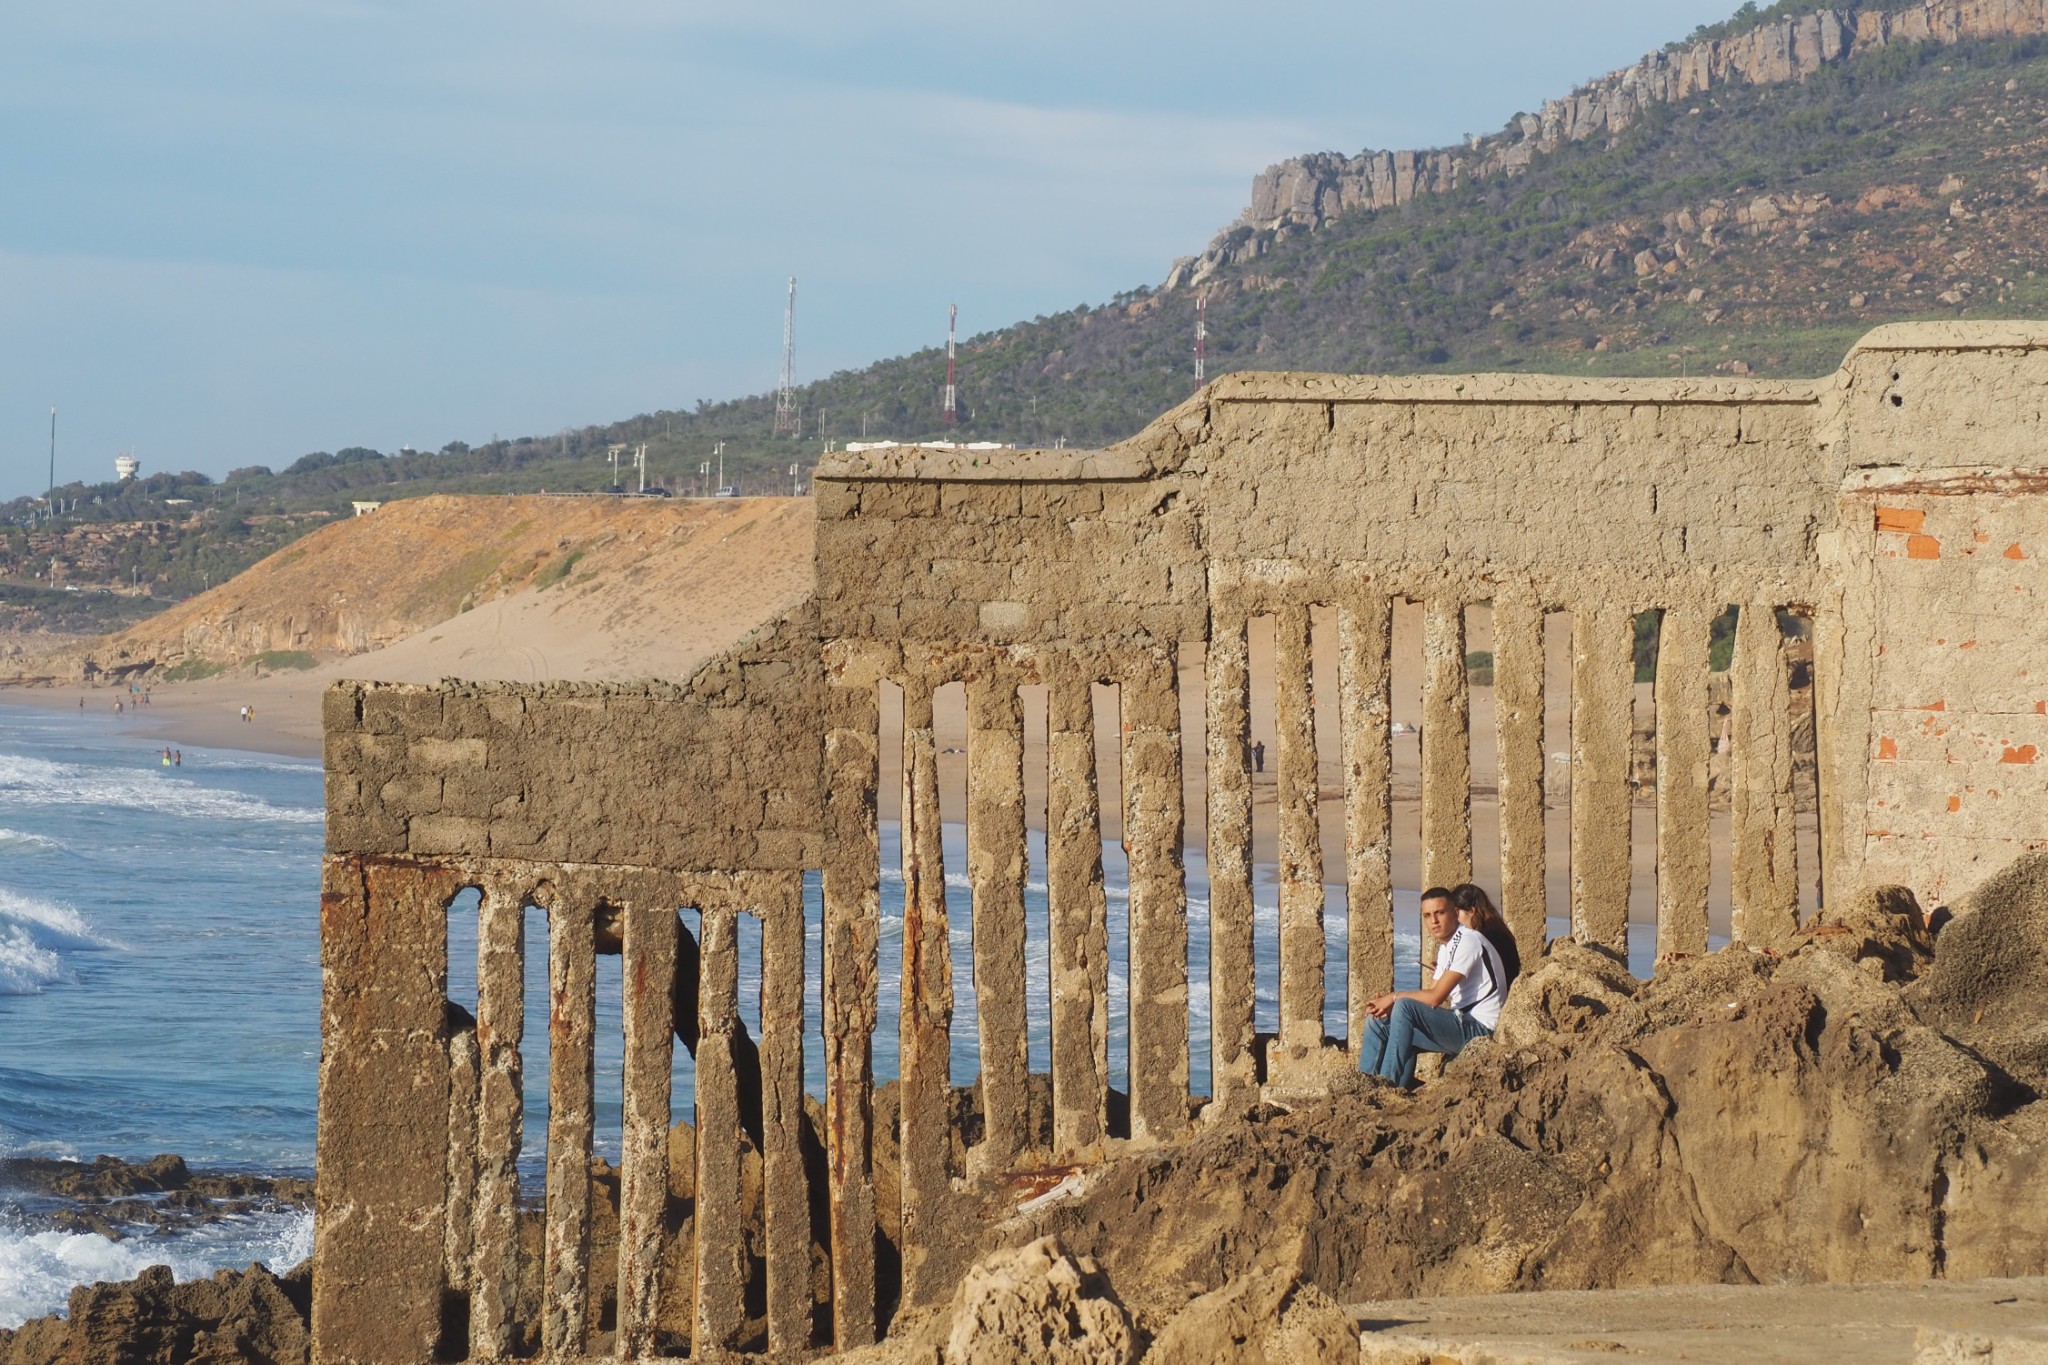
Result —
[[1729, 0], [0, 6], [0, 497], [547, 434], [1157, 284]]

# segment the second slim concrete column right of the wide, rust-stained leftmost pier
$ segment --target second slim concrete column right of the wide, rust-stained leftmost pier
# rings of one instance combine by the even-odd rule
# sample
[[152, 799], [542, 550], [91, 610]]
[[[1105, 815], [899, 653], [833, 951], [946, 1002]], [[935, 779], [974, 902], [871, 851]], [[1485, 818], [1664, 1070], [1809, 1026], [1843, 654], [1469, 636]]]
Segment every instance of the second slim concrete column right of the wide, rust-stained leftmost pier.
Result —
[[547, 907], [547, 1238], [541, 1349], [582, 1355], [590, 1297], [590, 1138], [596, 1083], [596, 907], [557, 886]]

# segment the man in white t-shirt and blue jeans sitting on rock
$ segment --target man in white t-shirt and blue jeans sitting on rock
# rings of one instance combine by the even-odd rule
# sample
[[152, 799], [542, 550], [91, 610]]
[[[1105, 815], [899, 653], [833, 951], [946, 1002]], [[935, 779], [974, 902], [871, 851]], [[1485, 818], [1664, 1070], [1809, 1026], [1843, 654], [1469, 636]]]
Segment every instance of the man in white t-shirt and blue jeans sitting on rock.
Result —
[[1421, 892], [1423, 933], [1438, 941], [1436, 978], [1421, 990], [1397, 990], [1366, 1005], [1362, 1066], [1405, 1091], [1415, 1089], [1415, 1054], [1456, 1056], [1464, 1044], [1493, 1033], [1507, 999], [1507, 966], [1477, 929], [1458, 923], [1450, 892]]

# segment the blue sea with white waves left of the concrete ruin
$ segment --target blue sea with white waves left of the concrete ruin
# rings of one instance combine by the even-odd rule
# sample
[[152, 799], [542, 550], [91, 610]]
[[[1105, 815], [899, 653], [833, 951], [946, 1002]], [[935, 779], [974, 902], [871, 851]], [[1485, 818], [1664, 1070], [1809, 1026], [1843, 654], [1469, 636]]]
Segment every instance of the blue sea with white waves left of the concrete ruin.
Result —
[[[0, 708], [0, 1154], [311, 1175], [319, 765]], [[70, 1287], [311, 1250], [311, 1214], [109, 1240], [0, 1191], [0, 1326]]]

